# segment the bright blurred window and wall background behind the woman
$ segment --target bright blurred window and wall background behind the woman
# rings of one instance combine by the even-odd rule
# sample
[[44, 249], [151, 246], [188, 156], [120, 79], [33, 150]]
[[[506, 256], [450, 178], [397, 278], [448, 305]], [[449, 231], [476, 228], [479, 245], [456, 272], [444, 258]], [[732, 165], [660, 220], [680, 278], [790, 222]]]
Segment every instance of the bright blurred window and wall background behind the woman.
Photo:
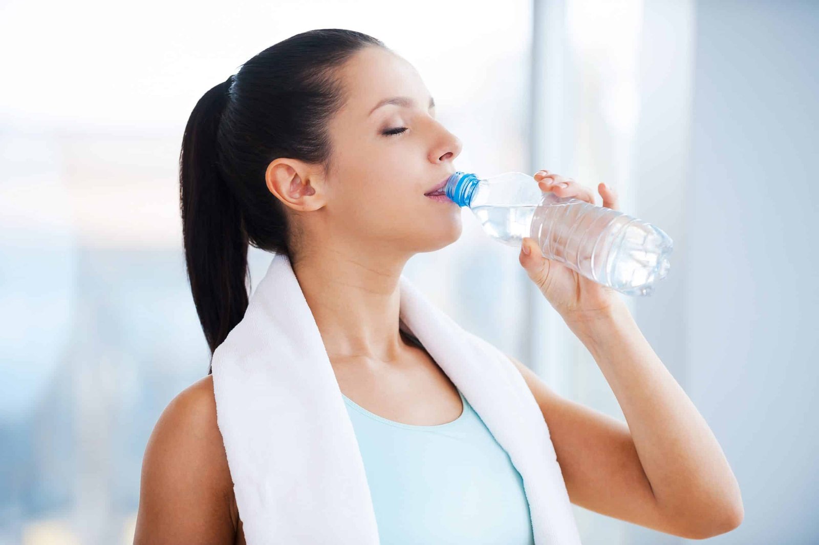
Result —
[[[4, 0], [0, 543], [132, 542], [147, 438], [210, 355], [181, 246], [184, 125], [243, 61], [331, 27], [414, 64], [459, 170], [604, 181], [673, 238], [655, 293], [623, 298], [740, 481], [744, 522], [710, 541], [819, 543], [819, 3], [748, 0]], [[624, 420], [518, 251], [462, 212], [462, 238], [405, 275]], [[271, 258], [251, 248], [254, 287]], [[573, 509], [586, 545], [687, 541]]]

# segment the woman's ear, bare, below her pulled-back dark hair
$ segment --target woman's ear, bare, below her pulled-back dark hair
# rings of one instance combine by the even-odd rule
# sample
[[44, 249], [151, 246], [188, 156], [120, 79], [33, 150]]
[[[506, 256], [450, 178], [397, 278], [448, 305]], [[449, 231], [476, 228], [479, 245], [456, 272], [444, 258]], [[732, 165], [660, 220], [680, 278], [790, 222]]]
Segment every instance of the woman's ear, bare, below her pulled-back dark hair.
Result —
[[318, 170], [303, 161], [286, 157], [270, 161], [265, 170], [265, 184], [270, 193], [293, 210], [313, 211], [324, 207], [324, 179]]

